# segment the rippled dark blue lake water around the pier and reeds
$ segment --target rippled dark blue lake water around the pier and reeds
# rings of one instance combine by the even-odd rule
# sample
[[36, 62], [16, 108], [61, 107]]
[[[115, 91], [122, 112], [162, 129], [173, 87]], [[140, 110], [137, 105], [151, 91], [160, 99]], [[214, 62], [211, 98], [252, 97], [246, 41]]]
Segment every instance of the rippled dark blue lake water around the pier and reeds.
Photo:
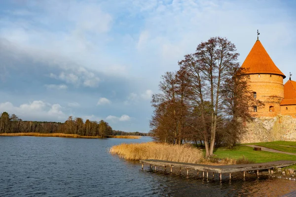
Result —
[[295, 181], [268, 176], [220, 182], [193, 170], [142, 170], [109, 154], [115, 144], [150, 140], [0, 136], [0, 197], [276, 197], [296, 190]]

